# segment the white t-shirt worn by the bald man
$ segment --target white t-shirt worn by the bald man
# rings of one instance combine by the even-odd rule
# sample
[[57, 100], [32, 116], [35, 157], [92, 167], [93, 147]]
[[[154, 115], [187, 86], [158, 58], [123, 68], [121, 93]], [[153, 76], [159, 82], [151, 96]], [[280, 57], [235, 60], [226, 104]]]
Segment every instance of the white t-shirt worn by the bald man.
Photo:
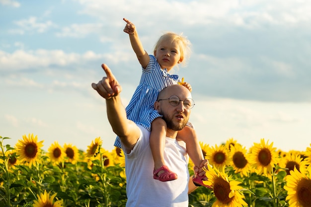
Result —
[[[176, 180], [161, 182], [153, 178], [154, 160], [151, 153], [150, 132], [141, 125], [141, 137], [134, 149], [125, 153], [127, 178], [126, 207], [188, 207], [188, 160], [183, 141], [166, 138], [164, 160], [178, 176]], [[125, 151], [122, 145], [123, 151]]]

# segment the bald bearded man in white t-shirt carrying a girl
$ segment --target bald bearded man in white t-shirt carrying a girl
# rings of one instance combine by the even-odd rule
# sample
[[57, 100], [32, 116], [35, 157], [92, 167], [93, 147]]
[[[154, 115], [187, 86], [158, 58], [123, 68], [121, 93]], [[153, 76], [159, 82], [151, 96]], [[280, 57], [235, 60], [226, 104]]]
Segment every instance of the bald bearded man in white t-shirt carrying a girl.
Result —
[[[163, 116], [167, 124], [164, 159], [169, 169], [178, 174], [178, 179], [160, 182], [153, 179], [153, 156], [149, 146], [150, 132], [136, 125], [126, 117], [121, 103], [122, 90], [111, 70], [102, 65], [106, 72], [97, 84], [92, 83], [99, 95], [106, 99], [107, 116], [113, 132], [119, 136], [125, 154], [125, 171], [127, 177], [127, 207], [188, 207], [188, 193], [196, 186], [189, 178], [188, 155], [185, 143], [177, 141], [177, 132], [186, 125], [191, 113], [184, 104], [189, 104], [190, 91], [181, 85], [164, 88], [155, 102], [155, 109]], [[174, 96], [174, 103], [169, 99]], [[177, 101], [176, 101], [177, 100]], [[186, 101], [186, 103], [185, 103]], [[204, 176], [203, 166], [195, 168], [199, 176]]]

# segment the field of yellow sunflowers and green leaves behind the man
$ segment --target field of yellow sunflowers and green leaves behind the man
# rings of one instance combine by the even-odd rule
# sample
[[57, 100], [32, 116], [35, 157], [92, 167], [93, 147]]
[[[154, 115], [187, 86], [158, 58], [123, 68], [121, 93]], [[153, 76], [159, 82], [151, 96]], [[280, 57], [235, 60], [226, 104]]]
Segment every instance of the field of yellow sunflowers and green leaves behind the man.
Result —
[[[124, 153], [92, 140], [86, 151], [24, 135], [15, 146], [0, 137], [0, 207], [124, 207]], [[249, 149], [229, 138], [200, 143], [209, 160], [205, 184], [189, 195], [189, 207], [311, 207], [311, 144], [282, 151], [264, 138]], [[193, 164], [189, 162], [190, 174]]]

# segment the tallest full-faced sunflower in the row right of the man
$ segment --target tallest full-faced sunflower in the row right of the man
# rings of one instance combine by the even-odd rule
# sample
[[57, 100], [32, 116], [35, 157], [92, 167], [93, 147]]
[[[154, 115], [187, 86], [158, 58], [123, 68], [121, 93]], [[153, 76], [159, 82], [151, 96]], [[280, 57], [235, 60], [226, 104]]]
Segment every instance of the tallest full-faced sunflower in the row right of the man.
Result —
[[275, 164], [277, 164], [278, 154], [276, 148], [273, 147], [273, 142], [265, 143], [264, 138], [259, 143], [254, 143], [249, 154], [249, 162], [256, 168], [258, 174], [271, 175]]

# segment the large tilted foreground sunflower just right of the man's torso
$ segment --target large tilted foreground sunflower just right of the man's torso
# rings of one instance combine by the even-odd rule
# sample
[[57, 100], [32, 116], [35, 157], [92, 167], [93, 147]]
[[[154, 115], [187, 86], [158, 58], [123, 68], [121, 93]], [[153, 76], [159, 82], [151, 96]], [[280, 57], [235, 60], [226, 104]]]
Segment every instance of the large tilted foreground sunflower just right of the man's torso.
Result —
[[248, 206], [243, 200], [245, 197], [240, 192], [242, 189], [238, 181], [229, 181], [228, 175], [225, 173], [225, 168], [222, 172], [208, 165], [206, 171], [207, 181], [204, 184], [212, 186], [213, 192], [217, 200], [212, 207], [243, 207]]

